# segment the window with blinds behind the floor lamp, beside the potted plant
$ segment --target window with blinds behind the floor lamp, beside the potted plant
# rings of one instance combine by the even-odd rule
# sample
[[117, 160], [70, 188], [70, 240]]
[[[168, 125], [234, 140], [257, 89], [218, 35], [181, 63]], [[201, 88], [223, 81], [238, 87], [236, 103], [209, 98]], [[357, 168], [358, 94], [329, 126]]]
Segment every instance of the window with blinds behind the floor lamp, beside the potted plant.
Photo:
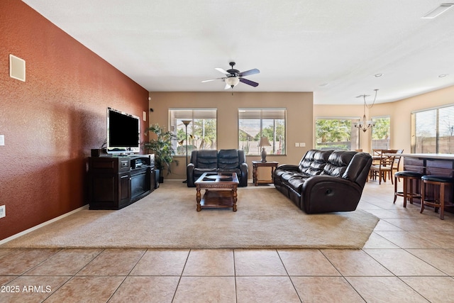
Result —
[[[170, 131], [177, 136], [175, 155], [190, 155], [192, 150], [216, 150], [217, 109], [169, 109]], [[183, 121], [190, 121], [186, 126]]]

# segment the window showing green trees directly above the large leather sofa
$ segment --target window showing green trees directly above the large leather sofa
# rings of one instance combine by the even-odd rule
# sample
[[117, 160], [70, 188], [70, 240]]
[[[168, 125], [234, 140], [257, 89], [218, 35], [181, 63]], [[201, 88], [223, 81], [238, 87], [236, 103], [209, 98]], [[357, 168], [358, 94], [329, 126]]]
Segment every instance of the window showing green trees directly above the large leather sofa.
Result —
[[316, 148], [325, 150], [355, 150], [359, 148], [359, 128], [355, 123], [359, 119], [316, 118]]

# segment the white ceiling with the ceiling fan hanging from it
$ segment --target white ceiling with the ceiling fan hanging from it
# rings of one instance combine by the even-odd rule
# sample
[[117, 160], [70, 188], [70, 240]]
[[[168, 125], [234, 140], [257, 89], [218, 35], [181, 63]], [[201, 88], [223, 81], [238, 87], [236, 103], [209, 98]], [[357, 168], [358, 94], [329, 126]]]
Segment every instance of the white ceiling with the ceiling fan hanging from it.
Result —
[[[23, 0], [150, 92], [314, 92], [389, 102], [454, 85], [454, 8], [433, 0]], [[376, 74], [382, 77], [375, 77]], [[446, 77], [438, 75], [448, 74]]]

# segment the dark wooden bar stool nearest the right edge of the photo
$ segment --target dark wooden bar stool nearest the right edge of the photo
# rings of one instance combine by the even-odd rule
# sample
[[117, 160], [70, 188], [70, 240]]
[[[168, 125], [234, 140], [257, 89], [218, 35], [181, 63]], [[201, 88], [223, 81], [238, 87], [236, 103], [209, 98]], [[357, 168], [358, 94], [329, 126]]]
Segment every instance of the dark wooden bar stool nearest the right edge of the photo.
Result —
[[[452, 177], [444, 177], [444, 176], [435, 176], [435, 175], [426, 175], [421, 177], [421, 211], [423, 213], [424, 205], [432, 206], [435, 208], [437, 212], [440, 209], [440, 219], [444, 220], [444, 212], [445, 212], [445, 187], [450, 186], [453, 187], [454, 178]], [[425, 192], [426, 192], [426, 184], [433, 184], [435, 185], [435, 192], [433, 200], [426, 200]], [[438, 200], [437, 200], [438, 199]], [[452, 206], [452, 205], [446, 205]]]

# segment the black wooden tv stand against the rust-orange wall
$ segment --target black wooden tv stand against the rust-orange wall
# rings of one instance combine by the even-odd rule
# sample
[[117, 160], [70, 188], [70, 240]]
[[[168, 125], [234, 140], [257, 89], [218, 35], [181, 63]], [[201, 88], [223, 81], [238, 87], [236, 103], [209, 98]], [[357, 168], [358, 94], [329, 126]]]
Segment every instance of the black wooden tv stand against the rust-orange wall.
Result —
[[89, 157], [90, 209], [122, 209], [153, 192], [154, 156]]

